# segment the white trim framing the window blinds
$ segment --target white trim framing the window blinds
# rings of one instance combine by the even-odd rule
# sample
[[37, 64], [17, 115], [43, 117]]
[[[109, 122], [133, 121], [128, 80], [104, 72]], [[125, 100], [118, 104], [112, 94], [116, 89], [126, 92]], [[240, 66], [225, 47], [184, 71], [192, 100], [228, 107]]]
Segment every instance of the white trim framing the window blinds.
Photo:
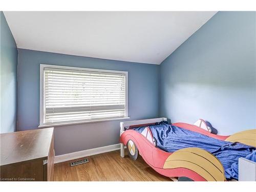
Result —
[[[69, 70], [80, 70], [80, 71], [94, 71], [94, 72], [107, 72], [107, 73], [122, 73], [125, 75], [125, 117], [119, 118], [108, 118], [108, 119], [95, 119], [95, 120], [87, 120], [87, 121], [74, 121], [74, 122], [63, 122], [63, 123], [51, 123], [45, 124], [44, 123], [44, 115], [45, 115], [45, 108], [44, 108], [44, 69], [45, 68], [54, 68], [54, 69], [69, 69]], [[101, 122], [101, 121], [112, 121], [112, 120], [120, 120], [120, 119], [129, 119], [128, 116], [128, 72], [127, 71], [114, 71], [114, 70], [103, 70], [103, 69], [90, 69], [90, 68], [80, 68], [80, 67], [69, 67], [69, 66], [58, 66], [58, 65], [48, 65], [40, 63], [40, 106], [39, 106], [39, 128], [43, 127], [50, 127], [50, 126], [61, 126], [61, 125], [71, 125], [71, 124], [81, 124], [81, 123], [90, 123], [90, 122]]]

